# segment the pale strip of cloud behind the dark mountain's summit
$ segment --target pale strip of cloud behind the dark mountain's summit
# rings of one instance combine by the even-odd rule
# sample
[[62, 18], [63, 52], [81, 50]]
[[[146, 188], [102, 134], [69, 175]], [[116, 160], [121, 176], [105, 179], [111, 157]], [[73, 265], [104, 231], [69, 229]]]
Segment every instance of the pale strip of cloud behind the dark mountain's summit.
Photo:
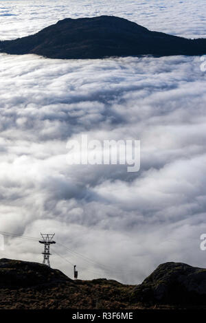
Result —
[[0, 6], [0, 39], [33, 34], [64, 18], [108, 14], [150, 30], [185, 37], [206, 37], [205, 0], [10, 0]]

